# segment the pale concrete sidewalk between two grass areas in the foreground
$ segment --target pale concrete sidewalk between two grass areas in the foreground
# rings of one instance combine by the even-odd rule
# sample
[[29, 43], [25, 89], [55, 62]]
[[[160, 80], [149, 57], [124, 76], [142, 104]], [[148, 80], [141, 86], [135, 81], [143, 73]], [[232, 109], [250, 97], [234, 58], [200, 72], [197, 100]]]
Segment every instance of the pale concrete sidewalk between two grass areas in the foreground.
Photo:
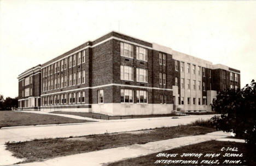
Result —
[[[195, 135], [188, 137], [173, 138], [167, 140], [160, 140], [149, 142], [147, 144], [134, 144], [131, 146], [117, 147], [113, 149], [105, 149], [100, 151], [93, 151], [88, 153], [80, 153], [77, 155], [57, 157], [48, 159], [44, 162], [25, 163], [19, 165], [103, 165], [110, 162], [116, 162], [127, 158], [135, 158], [139, 156], [146, 156], [152, 153], [171, 150], [177, 147], [187, 146], [191, 144], [198, 144], [204, 141], [216, 140], [230, 136], [229, 133], [213, 132], [205, 135]], [[154, 163], [152, 163], [153, 165]]]

